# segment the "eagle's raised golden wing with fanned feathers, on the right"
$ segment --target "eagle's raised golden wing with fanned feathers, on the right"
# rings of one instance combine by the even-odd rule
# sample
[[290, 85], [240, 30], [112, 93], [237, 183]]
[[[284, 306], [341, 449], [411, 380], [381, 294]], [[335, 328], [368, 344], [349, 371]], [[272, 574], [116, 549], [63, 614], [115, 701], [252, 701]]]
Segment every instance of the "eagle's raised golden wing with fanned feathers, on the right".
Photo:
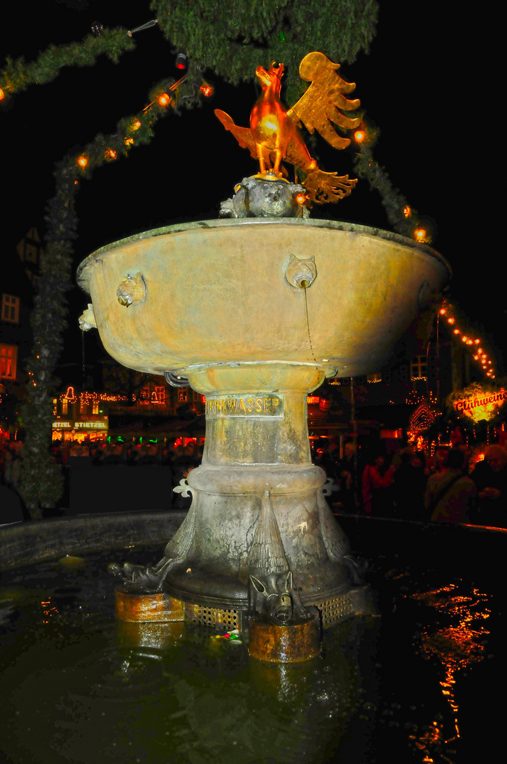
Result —
[[354, 90], [356, 83], [347, 83], [337, 73], [339, 63], [333, 63], [324, 53], [308, 53], [299, 64], [299, 75], [312, 83], [304, 95], [289, 109], [289, 115], [302, 121], [308, 132], [317, 130], [334, 148], [346, 148], [350, 138], [337, 134], [334, 125], [351, 130], [360, 125], [360, 119], [352, 119], [342, 112], [359, 108], [360, 100], [349, 100], [344, 93]]

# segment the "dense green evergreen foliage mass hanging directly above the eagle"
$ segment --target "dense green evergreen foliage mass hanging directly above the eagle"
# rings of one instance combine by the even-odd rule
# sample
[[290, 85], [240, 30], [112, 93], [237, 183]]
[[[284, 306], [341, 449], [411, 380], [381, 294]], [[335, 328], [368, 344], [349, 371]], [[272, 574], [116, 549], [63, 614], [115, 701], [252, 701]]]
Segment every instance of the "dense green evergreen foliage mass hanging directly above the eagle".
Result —
[[299, 62], [322, 50], [337, 63], [368, 52], [376, 34], [376, 0], [152, 0], [151, 8], [173, 50], [184, 50], [192, 70], [213, 70], [237, 85], [260, 63], [286, 65], [287, 101], [305, 89]]

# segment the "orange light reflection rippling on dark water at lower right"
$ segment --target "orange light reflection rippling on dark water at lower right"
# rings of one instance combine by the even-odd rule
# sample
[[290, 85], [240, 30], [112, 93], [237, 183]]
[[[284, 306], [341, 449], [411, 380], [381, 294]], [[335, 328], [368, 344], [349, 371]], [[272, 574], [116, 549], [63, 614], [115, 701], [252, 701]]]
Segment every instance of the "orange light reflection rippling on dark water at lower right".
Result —
[[[454, 594], [454, 591], [456, 592]], [[488, 596], [478, 589], [473, 589], [473, 596], [457, 593], [456, 584], [448, 584], [433, 591], [412, 594], [412, 599], [425, 602], [447, 617], [451, 623], [437, 631], [425, 630], [421, 633], [419, 649], [426, 659], [437, 658], [444, 667], [445, 677], [439, 684], [441, 693], [450, 708], [452, 726], [444, 734], [444, 723], [433, 721], [429, 730], [421, 736], [411, 735], [413, 744], [424, 753], [422, 762], [433, 762], [435, 753], [439, 760], [452, 764], [444, 746], [460, 738], [458, 719], [459, 706], [454, 694], [457, 673], [470, 668], [473, 663], [484, 657], [482, 639], [489, 634], [483, 622], [489, 618], [491, 610], [487, 607]], [[452, 752], [454, 753], [454, 751]]]

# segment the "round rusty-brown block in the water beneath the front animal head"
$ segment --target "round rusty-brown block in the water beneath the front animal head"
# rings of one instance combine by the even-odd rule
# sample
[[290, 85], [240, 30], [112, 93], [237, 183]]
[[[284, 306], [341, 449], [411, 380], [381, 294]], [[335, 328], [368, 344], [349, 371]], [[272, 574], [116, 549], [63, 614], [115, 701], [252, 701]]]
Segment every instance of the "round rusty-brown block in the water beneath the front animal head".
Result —
[[250, 621], [248, 654], [270, 663], [299, 663], [315, 658], [321, 652], [319, 614], [312, 608], [312, 617], [292, 626], [277, 626], [260, 620]]

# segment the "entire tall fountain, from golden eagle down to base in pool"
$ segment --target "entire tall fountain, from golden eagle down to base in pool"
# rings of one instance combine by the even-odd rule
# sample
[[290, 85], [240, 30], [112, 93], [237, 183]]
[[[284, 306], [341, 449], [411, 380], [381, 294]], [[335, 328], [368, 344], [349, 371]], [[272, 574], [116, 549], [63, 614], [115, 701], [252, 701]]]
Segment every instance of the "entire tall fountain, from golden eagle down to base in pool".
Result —
[[[112, 565], [124, 583], [118, 617], [248, 622], [250, 653], [275, 662], [308, 659], [320, 626], [374, 609], [312, 465], [306, 396], [328, 377], [378, 370], [449, 275], [439, 254], [398, 235], [308, 219], [308, 202], [356, 183], [320, 170], [297, 128], [350, 143], [328, 119], [359, 124], [344, 113], [359, 101], [344, 98], [355, 86], [338, 69], [308, 53], [299, 71], [312, 85], [287, 111], [283, 64], [259, 66], [250, 128], [215, 112], [260, 163], [223, 203], [232, 219], [144, 232], [78, 270], [92, 298], [80, 322], [106, 351], [206, 401], [188, 516], [157, 565]], [[304, 170], [305, 187], [283, 178], [282, 158]]]

